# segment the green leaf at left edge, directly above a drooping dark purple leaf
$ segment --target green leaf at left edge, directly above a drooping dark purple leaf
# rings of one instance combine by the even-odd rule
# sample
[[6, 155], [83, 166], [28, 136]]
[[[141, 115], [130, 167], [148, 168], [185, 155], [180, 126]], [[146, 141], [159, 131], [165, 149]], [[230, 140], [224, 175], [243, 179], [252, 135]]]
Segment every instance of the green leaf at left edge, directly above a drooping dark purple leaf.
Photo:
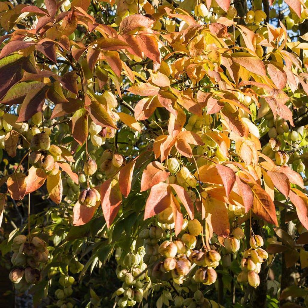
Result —
[[0, 103], [6, 105], [21, 104], [30, 91], [43, 86], [45, 86], [44, 83], [39, 81], [17, 83], [7, 91]]

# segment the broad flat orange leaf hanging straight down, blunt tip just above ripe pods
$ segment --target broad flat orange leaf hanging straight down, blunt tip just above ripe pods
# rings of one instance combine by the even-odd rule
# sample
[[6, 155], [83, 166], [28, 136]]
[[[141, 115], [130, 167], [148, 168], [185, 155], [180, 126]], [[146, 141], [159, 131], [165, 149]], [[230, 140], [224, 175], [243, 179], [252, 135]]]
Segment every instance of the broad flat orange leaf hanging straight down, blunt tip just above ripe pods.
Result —
[[206, 221], [218, 236], [228, 237], [230, 223], [228, 211], [224, 202], [206, 195], [202, 195], [202, 203], [205, 207]]

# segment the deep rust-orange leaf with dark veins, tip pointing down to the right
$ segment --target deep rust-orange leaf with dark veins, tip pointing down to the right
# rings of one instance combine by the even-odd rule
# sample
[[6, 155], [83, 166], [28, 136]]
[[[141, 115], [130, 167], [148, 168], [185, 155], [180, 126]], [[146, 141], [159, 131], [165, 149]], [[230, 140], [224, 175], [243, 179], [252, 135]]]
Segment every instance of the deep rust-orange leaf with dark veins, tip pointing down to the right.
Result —
[[276, 209], [270, 195], [261, 186], [254, 184], [253, 192], [253, 213], [265, 221], [278, 225]]

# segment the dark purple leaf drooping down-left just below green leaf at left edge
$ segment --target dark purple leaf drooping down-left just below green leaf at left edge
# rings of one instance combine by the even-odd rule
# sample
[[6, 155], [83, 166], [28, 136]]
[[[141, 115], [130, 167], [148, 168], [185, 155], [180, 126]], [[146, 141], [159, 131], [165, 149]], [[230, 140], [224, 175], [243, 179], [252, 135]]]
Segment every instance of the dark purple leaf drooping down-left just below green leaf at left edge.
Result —
[[18, 122], [27, 121], [32, 115], [43, 110], [47, 89], [48, 86], [43, 84], [41, 88], [31, 90], [26, 95], [19, 111]]

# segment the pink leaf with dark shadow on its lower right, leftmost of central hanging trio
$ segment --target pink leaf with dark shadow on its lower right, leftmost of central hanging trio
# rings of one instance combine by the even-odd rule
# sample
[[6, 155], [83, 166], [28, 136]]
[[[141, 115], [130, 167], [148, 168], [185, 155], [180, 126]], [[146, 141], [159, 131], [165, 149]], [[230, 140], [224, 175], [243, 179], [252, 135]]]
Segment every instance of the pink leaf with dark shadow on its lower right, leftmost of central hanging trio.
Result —
[[158, 183], [151, 188], [145, 204], [144, 220], [162, 212], [170, 206], [170, 188], [166, 183]]

